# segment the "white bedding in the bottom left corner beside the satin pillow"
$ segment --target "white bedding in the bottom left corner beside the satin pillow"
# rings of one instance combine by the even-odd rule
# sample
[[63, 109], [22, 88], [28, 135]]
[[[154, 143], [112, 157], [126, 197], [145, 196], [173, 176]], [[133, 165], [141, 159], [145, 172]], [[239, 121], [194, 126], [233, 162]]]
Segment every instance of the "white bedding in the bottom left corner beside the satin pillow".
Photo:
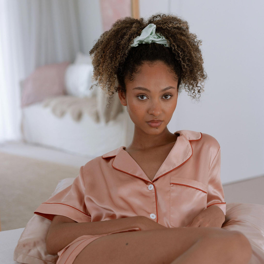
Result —
[[13, 260], [14, 249], [24, 228], [12, 229], [0, 232], [0, 263], [14, 264], [18, 263]]

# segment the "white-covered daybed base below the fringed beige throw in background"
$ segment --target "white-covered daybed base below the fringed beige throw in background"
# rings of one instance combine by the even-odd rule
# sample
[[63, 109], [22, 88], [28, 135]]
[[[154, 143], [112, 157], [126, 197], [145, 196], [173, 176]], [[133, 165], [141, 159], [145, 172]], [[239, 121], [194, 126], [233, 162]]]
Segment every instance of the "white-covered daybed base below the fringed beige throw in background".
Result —
[[[133, 138], [133, 122], [126, 111], [107, 124], [96, 123], [88, 114], [79, 122], [69, 113], [58, 118], [50, 108], [35, 103], [22, 109], [22, 130], [26, 142], [54, 147], [77, 155], [100, 156], [120, 146], [127, 146]], [[132, 125], [131, 125], [132, 123]]]

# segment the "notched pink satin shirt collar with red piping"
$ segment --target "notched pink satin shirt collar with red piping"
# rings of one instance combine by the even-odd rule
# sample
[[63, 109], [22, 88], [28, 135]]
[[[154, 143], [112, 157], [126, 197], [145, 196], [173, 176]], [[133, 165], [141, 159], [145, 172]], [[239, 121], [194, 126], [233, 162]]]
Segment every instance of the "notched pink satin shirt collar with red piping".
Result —
[[[172, 147], [167, 158], [157, 171], [152, 182], [185, 163], [192, 156], [192, 146], [190, 141], [200, 140], [202, 138], [202, 133], [191, 130], [178, 130], [174, 134], [180, 135], [178, 136], [176, 143]], [[115, 157], [112, 162], [113, 168], [151, 182], [142, 168], [140, 168], [138, 163], [136, 163], [136, 161], [128, 154], [128, 152], [124, 150], [124, 148], [125, 146], [121, 146], [103, 154], [102, 158]]]

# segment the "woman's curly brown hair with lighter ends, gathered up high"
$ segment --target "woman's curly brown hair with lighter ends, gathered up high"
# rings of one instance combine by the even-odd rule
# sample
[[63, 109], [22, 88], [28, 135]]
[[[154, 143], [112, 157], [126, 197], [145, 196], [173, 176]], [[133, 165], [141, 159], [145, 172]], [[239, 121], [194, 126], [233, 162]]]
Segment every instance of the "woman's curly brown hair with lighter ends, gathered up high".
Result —
[[[156, 25], [156, 32], [167, 39], [170, 48], [157, 43], [130, 46], [150, 23]], [[189, 31], [188, 22], [175, 15], [156, 13], [148, 21], [133, 17], [118, 19], [101, 34], [89, 51], [93, 65], [92, 80], [97, 82], [90, 89], [99, 84], [108, 94], [107, 106], [111, 106], [114, 92], [125, 93], [125, 79], [132, 81], [134, 73], [144, 62], [162, 61], [175, 73], [178, 92], [185, 88], [192, 99], [199, 101], [207, 78], [199, 48], [201, 42]]]

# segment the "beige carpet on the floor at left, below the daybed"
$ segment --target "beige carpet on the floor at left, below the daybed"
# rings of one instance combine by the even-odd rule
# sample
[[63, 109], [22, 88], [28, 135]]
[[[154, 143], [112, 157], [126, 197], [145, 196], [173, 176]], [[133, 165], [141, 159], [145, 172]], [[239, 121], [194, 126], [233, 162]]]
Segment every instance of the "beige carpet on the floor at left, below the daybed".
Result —
[[2, 231], [25, 227], [59, 180], [76, 177], [80, 168], [3, 152], [0, 152], [0, 166]]

